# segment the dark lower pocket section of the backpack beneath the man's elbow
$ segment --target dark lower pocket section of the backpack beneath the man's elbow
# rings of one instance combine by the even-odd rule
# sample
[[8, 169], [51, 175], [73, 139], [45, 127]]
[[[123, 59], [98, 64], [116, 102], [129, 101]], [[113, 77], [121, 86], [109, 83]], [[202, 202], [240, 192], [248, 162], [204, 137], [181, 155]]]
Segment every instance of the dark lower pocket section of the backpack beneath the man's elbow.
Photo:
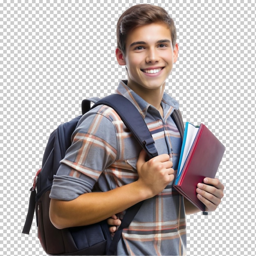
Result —
[[112, 239], [107, 221], [82, 227], [57, 229], [49, 218], [50, 191], [36, 202], [40, 243], [50, 255], [106, 255]]

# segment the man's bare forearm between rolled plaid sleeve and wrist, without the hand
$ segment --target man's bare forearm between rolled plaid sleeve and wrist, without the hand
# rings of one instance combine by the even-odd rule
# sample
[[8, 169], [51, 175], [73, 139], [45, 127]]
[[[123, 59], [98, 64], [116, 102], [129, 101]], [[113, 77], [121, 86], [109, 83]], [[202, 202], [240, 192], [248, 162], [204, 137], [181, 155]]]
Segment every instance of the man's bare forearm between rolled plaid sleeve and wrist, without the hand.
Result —
[[52, 199], [49, 213], [59, 229], [90, 225], [152, 196], [136, 181], [107, 192], [85, 193], [71, 201]]

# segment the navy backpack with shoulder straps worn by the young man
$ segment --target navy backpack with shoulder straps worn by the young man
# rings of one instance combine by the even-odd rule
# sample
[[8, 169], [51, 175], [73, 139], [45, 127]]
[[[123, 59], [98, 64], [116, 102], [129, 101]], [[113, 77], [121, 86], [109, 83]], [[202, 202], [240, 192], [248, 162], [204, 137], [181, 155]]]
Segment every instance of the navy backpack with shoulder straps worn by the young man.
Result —
[[[82, 102], [82, 114], [98, 105], [107, 105], [113, 108], [120, 116], [127, 128], [130, 129], [148, 156], [157, 156], [154, 140], [146, 126], [144, 119], [135, 106], [125, 97], [119, 94], [111, 94], [103, 99], [92, 98]], [[52, 188], [53, 177], [64, 158], [67, 148], [71, 145], [71, 135], [82, 115], [69, 122], [61, 124], [52, 132], [43, 155], [42, 168], [36, 173], [34, 184], [30, 189], [29, 209], [22, 233], [29, 234], [36, 211], [36, 225], [38, 238], [49, 255], [115, 255], [117, 243], [122, 230], [130, 225], [141, 204], [139, 202], [127, 209], [121, 226], [111, 238], [107, 221], [83, 226], [57, 229], [49, 219], [49, 193]], [[175, 110], [172, 118], [183, 138], [184, 124], [181, 113]]]

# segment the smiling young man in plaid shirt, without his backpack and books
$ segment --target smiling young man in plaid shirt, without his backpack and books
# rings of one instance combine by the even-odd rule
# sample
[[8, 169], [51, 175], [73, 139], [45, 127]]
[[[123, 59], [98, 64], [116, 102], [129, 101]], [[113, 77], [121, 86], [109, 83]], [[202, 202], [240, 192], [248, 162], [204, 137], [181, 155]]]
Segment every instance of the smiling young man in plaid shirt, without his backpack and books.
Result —
[[[145, 200], [123, 231], [117, 255], [185, 254], [185, 211], [199, 210], [173, 189], [182, 141], [171, 118], [178, 103], [164, 88], [178, 50], [174, 22], [164, 9], [141, 4], [119, 18], [116, 57], [126, 66], [128, 79], [119, 83], [116, 93], [144, 117], [159, 156], [147, 160], [112, 108], [98, 106], [88, 112], [54, 178], [50, 218], [57, 228], [111, 216], [109, 224], [119, 225], [128, 207]], [[224, 186], [217, 179], [204, 183], [198, 184], [198, 198], [213, 211]], [[95, 190], [103, 192], [90, 193]]]

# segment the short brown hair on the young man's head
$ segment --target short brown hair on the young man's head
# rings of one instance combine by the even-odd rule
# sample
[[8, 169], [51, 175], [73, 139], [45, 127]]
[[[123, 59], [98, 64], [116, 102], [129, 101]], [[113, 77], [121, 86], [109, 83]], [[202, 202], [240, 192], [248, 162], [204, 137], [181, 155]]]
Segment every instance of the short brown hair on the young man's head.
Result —
[[126, 37], [132, 29], [149, 25], [154, 22], [165, 23], [171, 31], [173, 48], [177, 40], [177, 32], [173, 19], [162, 7], [151, 4], [137, 4], [120, 16], [117, 22], [117, 48], [126, 54]]

